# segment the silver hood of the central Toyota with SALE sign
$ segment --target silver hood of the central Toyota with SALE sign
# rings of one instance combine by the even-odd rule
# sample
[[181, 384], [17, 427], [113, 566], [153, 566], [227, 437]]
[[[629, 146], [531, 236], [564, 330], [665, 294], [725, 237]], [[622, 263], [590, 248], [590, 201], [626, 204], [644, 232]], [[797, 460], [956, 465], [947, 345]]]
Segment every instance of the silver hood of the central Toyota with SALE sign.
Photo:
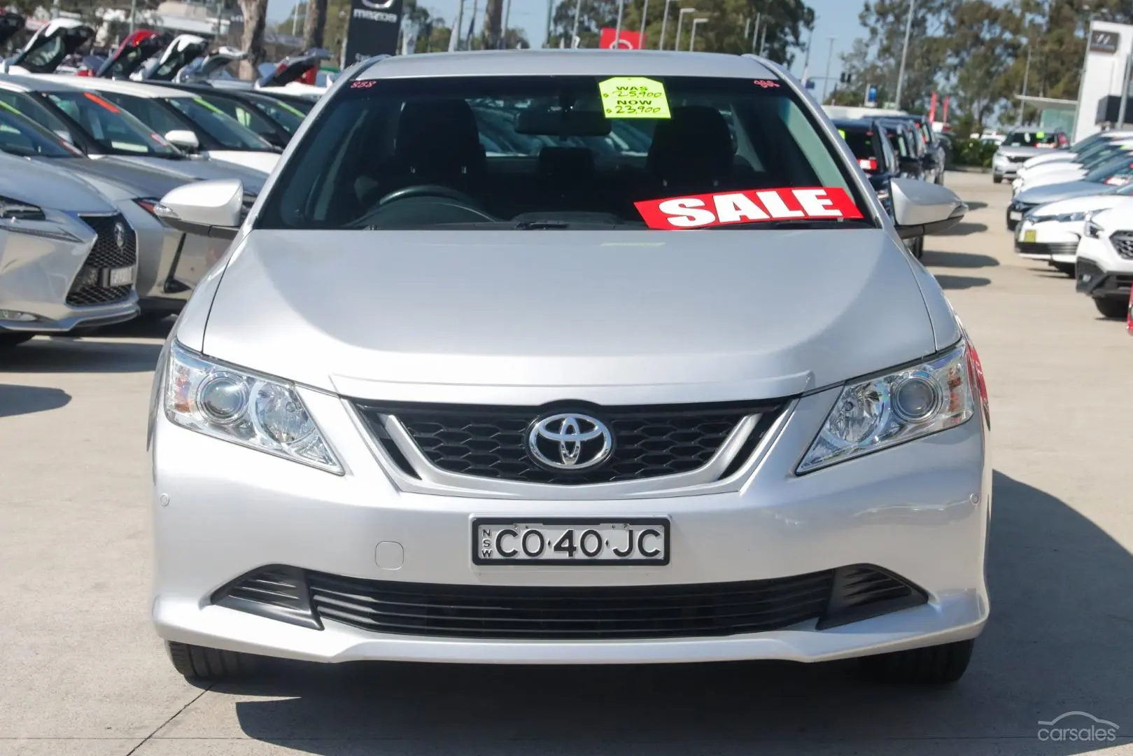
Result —
[[199, 346], [359, 398], [661, 404], [796, 394], [936, 340], [881, 230], [256, 230]]

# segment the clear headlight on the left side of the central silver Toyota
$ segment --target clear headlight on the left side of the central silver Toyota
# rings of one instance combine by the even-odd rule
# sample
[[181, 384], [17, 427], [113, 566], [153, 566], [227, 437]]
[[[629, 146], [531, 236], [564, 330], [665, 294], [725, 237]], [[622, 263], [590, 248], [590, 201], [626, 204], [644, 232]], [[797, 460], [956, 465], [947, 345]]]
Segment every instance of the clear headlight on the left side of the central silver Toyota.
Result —
[[165, 417], [191, 431], [342, 475], [295, 388], [213, 363], [176, 341], [164, 391]]

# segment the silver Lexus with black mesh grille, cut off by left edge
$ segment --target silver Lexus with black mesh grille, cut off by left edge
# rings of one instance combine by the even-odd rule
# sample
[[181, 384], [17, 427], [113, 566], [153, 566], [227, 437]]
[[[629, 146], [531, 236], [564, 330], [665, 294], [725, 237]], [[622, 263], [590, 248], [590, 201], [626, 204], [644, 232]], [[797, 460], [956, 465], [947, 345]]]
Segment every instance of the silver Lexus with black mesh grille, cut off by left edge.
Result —
[[69, 171], [0, 152], [0, 348], [138, 313], [137, 235]]

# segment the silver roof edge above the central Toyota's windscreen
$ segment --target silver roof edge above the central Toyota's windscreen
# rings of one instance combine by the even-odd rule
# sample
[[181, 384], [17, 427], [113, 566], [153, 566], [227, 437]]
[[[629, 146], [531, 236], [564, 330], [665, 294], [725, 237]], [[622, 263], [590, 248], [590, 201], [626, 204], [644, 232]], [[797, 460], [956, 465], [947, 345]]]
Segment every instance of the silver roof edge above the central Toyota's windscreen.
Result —
[[755, 56], [637, 50], [478, 50], [378, 59], [359, 79], [418, 76], [701, 76], [778, 79]]

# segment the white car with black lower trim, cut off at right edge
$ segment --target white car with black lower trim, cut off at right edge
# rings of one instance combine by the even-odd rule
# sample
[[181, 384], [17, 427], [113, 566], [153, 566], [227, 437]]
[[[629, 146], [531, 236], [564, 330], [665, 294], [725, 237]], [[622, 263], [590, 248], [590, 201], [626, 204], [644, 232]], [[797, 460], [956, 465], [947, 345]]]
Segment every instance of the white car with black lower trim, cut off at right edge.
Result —
[[1075, 288], [1104, 317], [1128, 314], [1133, 288], [1133, 203], [1091, 213], [1077, 245]]

